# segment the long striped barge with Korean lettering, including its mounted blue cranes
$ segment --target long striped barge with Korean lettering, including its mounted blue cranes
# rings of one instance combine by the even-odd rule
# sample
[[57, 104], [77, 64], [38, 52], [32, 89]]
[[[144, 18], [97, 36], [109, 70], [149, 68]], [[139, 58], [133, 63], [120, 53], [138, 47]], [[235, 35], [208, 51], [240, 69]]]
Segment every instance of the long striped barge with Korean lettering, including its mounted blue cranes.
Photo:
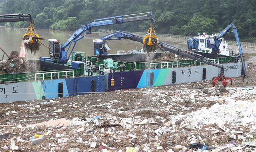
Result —
[[[115, 31], [94, 40], [94, 56], [86, 56], [86, 50], [73, 51], [76, 42], [85, 36], [82, 36], [82, 33], [91, 33], [91, 27], [153, 20], [152, 12], [144, 13], [142, 16], [133, 15], [135, 16], [115, 16], [94, 20], [76, 30], [62, 46], [58, 40], [49, 39], [50, 56], [28, 61], [38, 65], [37, 72], [0, 74], [0, 102], [41, 100], [91, 92], [198, 82], [212, 80], [214, 76], [222, 80], [225, 76], [231, 79], [247, 75], [247, 63], [243, 60], [239, 39], [239, 56], [219, 54], [218, 45], [221, 41], [216, 38], [221, 38], [224, 32], [222, 35], [218, 34], [207, 39], [206, 44], [212, 49], [212, 53], [192, 52], [159, 42], [158, 47], [164, 52], [154, 52], [150, 56], [144, 50], [130, 54], [126, 52], [108, 54], [105, 45], [108, 40], [124, 38], [143, 43], [142, 37], [122, 31]], [[224, 31], [228, 32], [230, 29], [236, 31], [233, 24]], [[188, 49], [196, 48], [195, 42], [198, 40], [190, 40]], [[165, 52], [172, 52], [190, 60], [152, 61]], [[223, 82], [224, 80], [222, 80], [224, 85]], [[226, 85], [225, 82], [224, 86]]]

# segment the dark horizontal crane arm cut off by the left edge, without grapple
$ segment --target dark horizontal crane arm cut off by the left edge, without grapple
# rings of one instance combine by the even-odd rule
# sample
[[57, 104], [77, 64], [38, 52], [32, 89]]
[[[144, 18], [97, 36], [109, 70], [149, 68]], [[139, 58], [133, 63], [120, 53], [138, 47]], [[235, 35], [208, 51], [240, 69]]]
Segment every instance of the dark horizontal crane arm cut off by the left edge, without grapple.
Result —
[[20, 22], [20, 21], [30, 21], [32, 22], [32, 17], [30, 14], [4, 14], [0, 15], [0, 23], [4, 22]]

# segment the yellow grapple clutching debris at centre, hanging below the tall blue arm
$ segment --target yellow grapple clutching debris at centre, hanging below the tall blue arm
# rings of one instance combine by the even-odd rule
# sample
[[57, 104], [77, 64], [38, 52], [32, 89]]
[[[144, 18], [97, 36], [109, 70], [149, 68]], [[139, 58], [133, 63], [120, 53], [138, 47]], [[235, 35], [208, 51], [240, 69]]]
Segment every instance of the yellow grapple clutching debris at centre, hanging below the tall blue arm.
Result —
[[154, 52], [158, 48], [158, 38], [152, 23], [150, 24], [146, 36], [143, 38], [143, 48], [147, 53]]

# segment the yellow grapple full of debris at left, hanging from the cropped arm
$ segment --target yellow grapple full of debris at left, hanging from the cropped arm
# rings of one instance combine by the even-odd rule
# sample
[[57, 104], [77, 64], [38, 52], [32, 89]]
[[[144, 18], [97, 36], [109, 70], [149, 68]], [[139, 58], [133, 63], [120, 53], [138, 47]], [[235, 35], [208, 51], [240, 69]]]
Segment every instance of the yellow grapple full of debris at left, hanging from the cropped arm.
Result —
[[32, 22], [30, 22], [30, 26], [28, 27], [26, 33], [23, 35], [22, 39], [24, 40], [24, 44], [26, 49], [30, 50], [31, 53], [36, 53], [40, 48], [40, 40], [42, 38], [36, 33]]

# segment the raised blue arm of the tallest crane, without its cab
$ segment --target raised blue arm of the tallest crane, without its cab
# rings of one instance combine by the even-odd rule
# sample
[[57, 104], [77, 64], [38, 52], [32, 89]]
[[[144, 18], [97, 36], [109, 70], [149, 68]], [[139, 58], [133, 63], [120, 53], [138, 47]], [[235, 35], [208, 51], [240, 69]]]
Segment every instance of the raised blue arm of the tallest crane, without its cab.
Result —
[[[74, 46], [76, 42], [87, 34], [91, 34], [91, 28], [96, 26], [105, 26], [105, 25], [111, 25], [111, 24], [122, 24], [127, 22], [135, 22], [140, 20], [151, 20], [151, 22], [154, 21], [152, 12], [146, 12], [146, 13], [140, 13], [140, 14], [130, 14], [130, 15], [123, 15], [123, 16], [113, 16], [109, 18], [102, 18], [102, 19], [96, 19], [94, 22], [87, 23], [86, 25], [82, 25], [78, 30], [76, 30], [66, 42], [61, 46], [60, 48], [60, 63], [66, 63], [68, 61], [68, 58], [70, 57]], [[82, 35], [84, 32], [86, 32], [85, 35]], [[72, 47], [72, 50], [70, 51], [70, 54], [67, 57], [67, 54], [69, 52], [70, 46], [74, 42], [74, 46]], [[68, 49], [65, 51], [65, 48], [68, 47]]]

